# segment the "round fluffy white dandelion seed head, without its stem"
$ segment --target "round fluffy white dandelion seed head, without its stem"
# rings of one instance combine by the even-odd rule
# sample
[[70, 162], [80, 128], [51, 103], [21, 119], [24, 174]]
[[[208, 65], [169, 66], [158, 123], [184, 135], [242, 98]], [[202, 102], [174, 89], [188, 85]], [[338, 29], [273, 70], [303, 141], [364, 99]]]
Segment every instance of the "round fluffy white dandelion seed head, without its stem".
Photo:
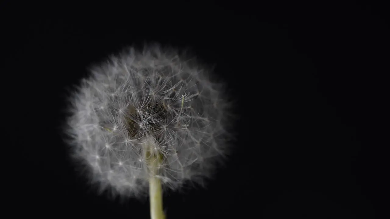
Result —
[[164, 188], [202, 184], [228, 152], [232, 120], [222, 88], [172, 48], [129, 48], [93, 67], [71, 95], [72, 157], [102, 191], [120, 195], [145, 194], [153, 155], [161, 156]]

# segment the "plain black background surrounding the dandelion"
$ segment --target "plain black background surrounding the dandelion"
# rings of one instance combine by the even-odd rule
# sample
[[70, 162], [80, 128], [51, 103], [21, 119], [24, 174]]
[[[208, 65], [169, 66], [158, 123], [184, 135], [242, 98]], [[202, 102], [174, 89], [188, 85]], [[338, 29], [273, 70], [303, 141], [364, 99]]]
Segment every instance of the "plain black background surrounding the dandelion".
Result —
[[14, 213], [149, 218], [148, 200], [110, 201], [74, 175], [60, 124], [65, 88], [90, 64], [157, 41], [216, 64], [240, 116], [229, 162], [206, 189], [166, 193], [167, 219], [379, 217], [386, 7], [298, 2], [3, 3]]

